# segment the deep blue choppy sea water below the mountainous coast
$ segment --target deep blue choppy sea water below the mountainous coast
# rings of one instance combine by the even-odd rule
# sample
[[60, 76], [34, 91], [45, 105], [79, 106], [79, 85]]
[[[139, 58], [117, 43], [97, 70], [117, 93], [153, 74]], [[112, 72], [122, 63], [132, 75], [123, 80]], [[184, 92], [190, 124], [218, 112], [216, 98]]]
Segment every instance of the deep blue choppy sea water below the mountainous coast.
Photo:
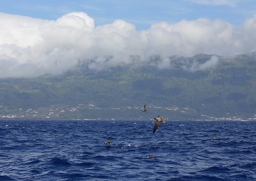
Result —
[[256, 180], [256, 122], [169, 121], [154, 134], [153, 127], [2, 120], [0, 180]]

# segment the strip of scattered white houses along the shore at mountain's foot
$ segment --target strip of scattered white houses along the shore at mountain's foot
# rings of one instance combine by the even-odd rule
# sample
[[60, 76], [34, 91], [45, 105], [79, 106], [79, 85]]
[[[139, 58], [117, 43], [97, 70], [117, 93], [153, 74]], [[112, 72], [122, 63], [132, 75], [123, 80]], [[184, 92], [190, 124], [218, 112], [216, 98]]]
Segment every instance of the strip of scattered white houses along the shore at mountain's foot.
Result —
[[[178, 107], [161, 107], [151, 106], [149, 107], [154, 112], [161, 112], [166, 115], [166, 120], [256, 120], [256, 113], [251, 117], [239, 117], [226, 113], [221, 117], [213, 117], [201, 113], [195, 117], [193, 110], [189, 108], [178, 108]], [[0, 106], [0, 120], [147, 120], [148, 117], [140, 115], [139, 117], [132, 117], [134, 113], [140, 113], [140, 106], [126, 106], [122, 108], [100, 108], [99, 106], [88, 104], [88, 105], [77, 105], [77, 106], [54, 106], [45, 108], [26, 108], [26, 109], [12, 109], [6, 106]], [[158, 111], [157, 111], [158, 110]], [[124, 117], [118, 115], [118, 113], [125, 112]], [[172, 114], [179, 115], [174, 117]], [[113, 116], [118, 115], [118, 116]], [[170, 116], [169, 116], [170, 115]], [[189, 115], [193, 115], [193, 118], [189, 118]]]

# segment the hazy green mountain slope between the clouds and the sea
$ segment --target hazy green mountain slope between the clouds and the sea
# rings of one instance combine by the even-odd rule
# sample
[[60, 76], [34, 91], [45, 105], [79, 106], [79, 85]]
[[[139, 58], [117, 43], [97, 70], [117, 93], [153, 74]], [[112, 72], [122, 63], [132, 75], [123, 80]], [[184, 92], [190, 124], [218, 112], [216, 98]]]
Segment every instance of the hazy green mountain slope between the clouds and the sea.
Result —
[[[0, 80], [0, 119], [254, 119], [256, 53]], [[141, 112], [142, 106], [148, 112]]]

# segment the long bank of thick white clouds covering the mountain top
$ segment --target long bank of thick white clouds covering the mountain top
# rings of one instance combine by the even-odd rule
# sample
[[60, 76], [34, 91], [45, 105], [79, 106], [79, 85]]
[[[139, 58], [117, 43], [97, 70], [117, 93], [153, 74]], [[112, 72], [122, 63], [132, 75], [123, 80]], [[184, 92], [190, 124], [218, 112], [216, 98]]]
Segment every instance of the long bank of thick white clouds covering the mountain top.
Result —
[[[156, 55], [156, 66], [169, 68], [171, 55], [255, 51], [255, 32], [256, 15], [239, 27], [221, 19], [198, 18], [175, 24], [159, 22], [136, 31], [124, 20], [95, 26], [93, 18], [83, 12], [57, 20], [0, 13], [0, 78], [58, 75], [81, 62], [96, 70], [140, 66]], [[212, 57], [205, 64], [195, 64], [195, 69], [207, 69], [217, 62]]]

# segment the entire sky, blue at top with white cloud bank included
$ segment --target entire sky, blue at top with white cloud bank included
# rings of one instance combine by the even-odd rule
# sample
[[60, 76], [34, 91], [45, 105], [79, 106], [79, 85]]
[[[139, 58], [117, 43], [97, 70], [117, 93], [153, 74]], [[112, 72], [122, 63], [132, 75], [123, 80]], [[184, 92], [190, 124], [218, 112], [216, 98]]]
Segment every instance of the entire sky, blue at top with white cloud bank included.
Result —
[[[256, 50], [254, 0], [0, 1], [0, 78]], [[212, 57], [200, 69], [218, 64]]]

